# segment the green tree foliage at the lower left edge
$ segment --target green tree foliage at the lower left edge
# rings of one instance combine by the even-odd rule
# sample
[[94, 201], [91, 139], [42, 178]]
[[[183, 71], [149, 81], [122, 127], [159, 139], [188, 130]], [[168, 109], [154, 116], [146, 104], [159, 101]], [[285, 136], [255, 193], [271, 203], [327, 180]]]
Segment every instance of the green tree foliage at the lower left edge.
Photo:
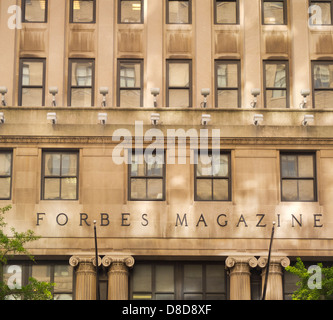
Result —
[[[32, 230], [26, 232], [17, 232], [15, 228], [10, 228], [11, 235], [5, 234], [5, 214], [11, 209], [11, 206], [0, 208], [0, 274], [3, 266], [7, 264], [8, 258], [15, 254], [23, 254], [33, 260], [25, 244], [40, 239]], [[0, 300], [10, 296], [12, 299], [20, 300], [52, 300], [53, 283], [40, 282], [34, 278], [29, 278], [29, 283], [19, 289], [9, 288], [3, 281], [0, 281]]]

